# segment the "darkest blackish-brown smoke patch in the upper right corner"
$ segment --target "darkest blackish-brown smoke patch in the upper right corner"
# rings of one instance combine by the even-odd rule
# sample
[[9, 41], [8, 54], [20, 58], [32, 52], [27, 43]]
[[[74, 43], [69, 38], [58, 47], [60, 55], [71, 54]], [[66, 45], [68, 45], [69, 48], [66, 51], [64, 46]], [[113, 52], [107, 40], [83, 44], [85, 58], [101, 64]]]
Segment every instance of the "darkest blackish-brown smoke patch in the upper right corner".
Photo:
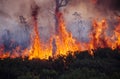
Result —
[[106, 15], [120, 16], [120, 0], [97, 0], [95, 7]]

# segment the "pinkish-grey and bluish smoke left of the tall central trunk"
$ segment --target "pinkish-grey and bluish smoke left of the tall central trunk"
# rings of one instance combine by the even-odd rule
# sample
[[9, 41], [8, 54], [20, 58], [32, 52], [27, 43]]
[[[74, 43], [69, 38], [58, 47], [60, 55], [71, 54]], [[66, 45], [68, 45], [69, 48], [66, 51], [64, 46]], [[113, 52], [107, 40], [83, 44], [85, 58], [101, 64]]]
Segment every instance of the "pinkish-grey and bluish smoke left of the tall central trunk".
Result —
[[[36, 5], [36, 3], [40, 7], [40, 11], [38, 12], [40, 37], [43, 40], [50, 37], [50, 27], [53, 27], [54, 23], [49, 18], [46, 18], [51, 18], [52, 15], [47, 11], [48, 4], [46, 2], [48, 3], [49, 0], [0, 0], [0, 43], [5, 43], [9, 38], [10, 41], [13, 40], [23, 47], [29, 45], [33, 23], [31, 10], [32, 6]], [[25, 23], [20, 22], [20, 16], [25, 18]], [[9, 34], [6, 31], [9, 31]]]

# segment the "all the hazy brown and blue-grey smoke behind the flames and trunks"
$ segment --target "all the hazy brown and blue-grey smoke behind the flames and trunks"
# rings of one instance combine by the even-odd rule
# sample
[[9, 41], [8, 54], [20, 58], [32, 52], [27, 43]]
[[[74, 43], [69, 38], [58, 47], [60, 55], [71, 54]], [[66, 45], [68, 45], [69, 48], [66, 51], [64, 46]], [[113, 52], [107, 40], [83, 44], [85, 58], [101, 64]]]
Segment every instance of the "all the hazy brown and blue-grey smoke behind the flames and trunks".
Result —
[[[32, 27], [31, 6], [34, 5], [40, 7], [37, 18], [40, 37], [42, 41], [48, 41], [55, 31], [54, 0], [0, 0], [0, 43], [10, 35], [9, 38], [18, 44], [26, 44], [24, 47], [29, 45]], [[110, 27], [114, 28], [115, 17], [120, 16], [120, 0], [70, 0], [67, 6], [61, 8], [61, 12], [67, 30], [79, 41], [89, 41], [88, 34], [94, 18], [106, 18], [109, 24], [112, 23]], [[25, 24], [20, 23], [19, 16], [25, 18]], [[9, 35], [6, 34], [6, 30], [9, 31]], [[3, 36], [6, 37], [2, 39]]]

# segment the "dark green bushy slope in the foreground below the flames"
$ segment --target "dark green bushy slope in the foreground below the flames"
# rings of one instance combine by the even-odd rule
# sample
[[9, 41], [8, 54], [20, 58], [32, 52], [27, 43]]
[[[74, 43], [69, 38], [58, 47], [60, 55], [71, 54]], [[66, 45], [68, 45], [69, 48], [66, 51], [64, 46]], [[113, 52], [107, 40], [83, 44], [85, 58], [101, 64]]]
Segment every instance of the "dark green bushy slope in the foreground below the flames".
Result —
[[49, 60], [0, 60], [0, 79], [120, 79], [120, 50], [110, 48], [69, 52]]

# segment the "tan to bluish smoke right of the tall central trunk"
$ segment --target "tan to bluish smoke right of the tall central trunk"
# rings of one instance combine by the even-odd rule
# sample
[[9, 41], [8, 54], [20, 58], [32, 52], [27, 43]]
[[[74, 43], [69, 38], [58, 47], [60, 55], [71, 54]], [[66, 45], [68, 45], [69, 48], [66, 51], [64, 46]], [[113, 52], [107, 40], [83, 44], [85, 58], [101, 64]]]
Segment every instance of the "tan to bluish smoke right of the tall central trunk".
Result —
[[119, 0], [71, 0], [61, 9], [64, 13], [67, 29], [80, 41], [89, 41], [92, 21], [106, 19], [111, 29], [117, 25], [120, 16]]

